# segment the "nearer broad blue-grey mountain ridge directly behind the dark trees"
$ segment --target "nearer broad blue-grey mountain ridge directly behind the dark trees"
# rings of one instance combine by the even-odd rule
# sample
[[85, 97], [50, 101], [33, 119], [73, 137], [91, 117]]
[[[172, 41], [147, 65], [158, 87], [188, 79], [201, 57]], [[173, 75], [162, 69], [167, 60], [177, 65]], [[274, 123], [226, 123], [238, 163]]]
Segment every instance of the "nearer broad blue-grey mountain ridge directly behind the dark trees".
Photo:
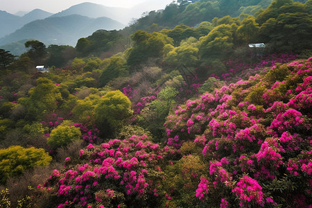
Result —
[[125, 25], [108, 17], [89, 18], [82, 15], [49, 17], [32, 21], [6, 37], [0, 45], [22, 39], [35, 39], [44, 44], [69, 44], [75, 46], [80, 37], [94, 33], [98, 29], [118, 30]]

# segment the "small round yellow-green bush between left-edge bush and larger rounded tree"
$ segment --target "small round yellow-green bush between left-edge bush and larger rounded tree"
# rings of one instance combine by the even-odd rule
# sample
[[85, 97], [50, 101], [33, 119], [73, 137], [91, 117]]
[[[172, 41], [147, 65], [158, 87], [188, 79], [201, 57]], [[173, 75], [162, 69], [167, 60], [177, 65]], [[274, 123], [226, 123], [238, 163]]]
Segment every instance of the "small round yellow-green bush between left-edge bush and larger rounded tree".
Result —
[[53, 149], [65, 147], [73, 141], [81, 139], [81, 132], [79, 128], [64, 121], [51, 131], [47, 144]]

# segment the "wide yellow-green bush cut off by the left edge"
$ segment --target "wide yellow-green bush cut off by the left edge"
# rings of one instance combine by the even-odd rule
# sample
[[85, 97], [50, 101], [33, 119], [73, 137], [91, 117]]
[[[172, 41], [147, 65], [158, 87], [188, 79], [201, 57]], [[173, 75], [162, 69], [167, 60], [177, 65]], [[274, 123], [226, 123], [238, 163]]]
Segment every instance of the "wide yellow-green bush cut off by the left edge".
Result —
[[22, 148], [11, 146], [0, 149], [0, 178], [1, 183], [6, 183], [8, 177], [21, 175], [25, 170], [35, 166], [46, 166], [52, 160], [42, 148]]

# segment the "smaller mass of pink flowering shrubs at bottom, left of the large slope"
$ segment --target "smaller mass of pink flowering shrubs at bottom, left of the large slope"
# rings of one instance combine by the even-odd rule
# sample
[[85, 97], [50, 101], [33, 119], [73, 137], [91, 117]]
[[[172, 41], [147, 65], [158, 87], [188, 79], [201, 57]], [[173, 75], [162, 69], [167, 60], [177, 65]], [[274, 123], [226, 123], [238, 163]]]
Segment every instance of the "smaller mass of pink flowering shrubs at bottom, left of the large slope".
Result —
[[146, 135], [114, 139], [100, 146], [89, 144], [80, 150], [83, 164], [55, 170], [42, 189], [55, 190], [59, 207], [145, 206], [146, 196], [160, 194], [156, 180], [161, 180], [164, 159], [174, 153], [153, 144]]

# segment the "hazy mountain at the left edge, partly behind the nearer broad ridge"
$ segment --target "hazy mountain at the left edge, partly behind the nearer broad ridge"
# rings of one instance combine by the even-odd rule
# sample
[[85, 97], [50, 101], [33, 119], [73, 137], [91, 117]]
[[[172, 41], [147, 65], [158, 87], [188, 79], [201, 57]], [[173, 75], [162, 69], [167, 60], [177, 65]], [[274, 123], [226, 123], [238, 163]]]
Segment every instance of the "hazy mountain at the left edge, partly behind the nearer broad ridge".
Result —
[[23, 17], [12, 15], [6, 11], [0, 10], [0, 37], [4, 37], [5, 35], [9, 35], [13, 33], [18, 28], [21, 28], [25, 24], [34, 21], [36, 19], [44, 19], [53, 15], [50, 12], [46, 12], [44, 10], [35, 9], [31, 12], [28, 12]]

